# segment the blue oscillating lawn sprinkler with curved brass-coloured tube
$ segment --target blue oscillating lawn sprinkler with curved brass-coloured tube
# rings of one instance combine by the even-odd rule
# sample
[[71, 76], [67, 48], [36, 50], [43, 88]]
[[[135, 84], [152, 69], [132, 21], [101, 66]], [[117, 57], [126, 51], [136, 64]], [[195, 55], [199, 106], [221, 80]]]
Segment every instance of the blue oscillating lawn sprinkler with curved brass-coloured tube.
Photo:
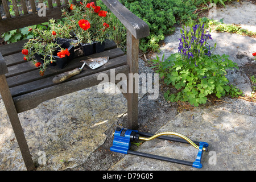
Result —
[[[113, 135], [114, 135], [113, 146], [110, 147], [110, 151], [119, 152], [122, 154], [131, 154], [131, 155], [143, 156], [146, 158], [164, 160], [164, 161], [171, 162], [171, 163], [192, 166], [195, 168], [203, 167], [203, 165], [201, 164], [201, 158], [203, 155], [203, 151], [208, 151], [208, 143], [192, 141], [191, 139], [185, 137], [184, 135], [181, 135], [179, 133], [174, 133], [174, 132], [164, 132], [164, 133], [159, 133], [159, 134], [154, 135], [154, 134], [150, 134], [150, 133], [143, 133], [143, 132], [140, 132], [137, 130], [121, 129], [120, 127], [117, 127], [117, 129], [114, 131]], [[167, 137], [167, 136], [163, 136], [163, 135], [175, 135], [180, 138]], [[149, 137], [149, 138], [147, 138], [147, 137]], [[146, 154], [143, 152], [130, 150], [131, 142], [137, 142], [138, 140], [152, 140], [154, 138], [191, 144], [193, 147], [195, 147], [197, 150], [199, 150], [198, 154], [196, 156], [195, 162], [188, 162], [185, 160], [172, 159], [172, 158], [167, 158], [164, 156]]]

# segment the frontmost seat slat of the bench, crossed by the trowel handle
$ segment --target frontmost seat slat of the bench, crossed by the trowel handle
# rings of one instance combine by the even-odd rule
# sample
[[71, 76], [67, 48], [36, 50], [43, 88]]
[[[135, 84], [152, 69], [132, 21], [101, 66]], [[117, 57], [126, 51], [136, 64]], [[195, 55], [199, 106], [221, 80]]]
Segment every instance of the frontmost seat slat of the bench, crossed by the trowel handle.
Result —
[[[115, 59], [109, 60], [108, 63], [106, 63], [104, 66], [97, 69], [90, 69], [89, 67], [85, 67], [81, 73], [69, 78], [67, 81], [75, 80], [77, 78], [81, 78], [84, 76], [93, 75], [95, 73], [106, 71], [108, 69], [117, 68], [125, 64], [126, 64], [126, 56], [117, 57]], [[34, 92], [36, 90], [40, 90], [40, 89], [48, 88], [49, 86], [56, 85], [52, 82], [53, 77], [55, 77], [55, 75], [10, 88], [11, 94], [13, 97], [16, 97], [22, 94], [27, 94], [30, 92]]]

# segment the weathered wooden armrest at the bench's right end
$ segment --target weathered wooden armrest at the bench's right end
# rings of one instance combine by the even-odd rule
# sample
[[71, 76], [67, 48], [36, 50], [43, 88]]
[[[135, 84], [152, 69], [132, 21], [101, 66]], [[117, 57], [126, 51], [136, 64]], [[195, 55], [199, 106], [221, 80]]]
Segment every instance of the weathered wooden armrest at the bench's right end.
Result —
[[117, 16], [120, 22], [131, 32], [135, 39], [141, 39], [150, 35], [146, 22], [131, 13], [118, 0], [102, 0], [112, 13]]

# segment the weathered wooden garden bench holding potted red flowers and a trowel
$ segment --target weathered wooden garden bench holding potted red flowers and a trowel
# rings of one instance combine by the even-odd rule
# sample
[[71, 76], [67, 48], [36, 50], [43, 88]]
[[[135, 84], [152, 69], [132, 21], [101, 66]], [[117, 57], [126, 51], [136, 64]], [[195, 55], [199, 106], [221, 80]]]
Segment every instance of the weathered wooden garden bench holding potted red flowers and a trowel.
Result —
[[[34, 0], [28, 1], [32, 12], [28, 12], [26, 1], [20, 0], [23, 14], [18, 11], [16, 2], [12, 1], [15, 16], [10, 15], [7, 2], [7, 0], [2, 0], [6, 17], [0, 16], [0, 33], [48, 22], [48, 19], [59, 19], [61, 18], [61, 9], [67, 7], [68, 3], [65, 0], [64, 5], [61, 5], [60, 0], [56, 0], [57, 6], [54, 7], [52, 1], [48, 0], [46, 16], [39, 17]], [[42, 1], [39, 0], [39, 2]], [[127, 29], [127, 52], [125, 55], [114, 42], [106, 42], [104, 52], [90, 56], [93, 58], [109, 56], [109, 62], [100, 68], [95, 70], [88, 67], [84, 68], [84, 71], [79, 75], [60, 84], [53, 84], [53, 77], [59, 73], [81, 67], [80, 60], [88, 59], [88, 57], [75, 57], [64, 69], [48, 67], [42, 77], [32, 63], [23, 60], [21, 51], [27, 40], [0, 47], [0, 93], [28, 170], [35, 169], [35, 166], [20, 125], [18, 113], [33, 109], [43, 101], [97, 85], [101, 82], [101, 80], [97, 80], [97, 76], [100, 73], [106, 73], [110, 76], [110, 69], [115, 69], [115, 75], [125, 73], [127, 78], [129, 73], [138, 73], [139, 39], [149, 35], [147, 24], [126, 9], [118, 0], [102, 0], [102, 2], [125, 25]], [[73, 0], [72, 3], [79, 2]], [[138, 124], [138, 94], [135, 92], [126, 93], [125, 97], [127, 99], [127, 127], [136, 129]]]

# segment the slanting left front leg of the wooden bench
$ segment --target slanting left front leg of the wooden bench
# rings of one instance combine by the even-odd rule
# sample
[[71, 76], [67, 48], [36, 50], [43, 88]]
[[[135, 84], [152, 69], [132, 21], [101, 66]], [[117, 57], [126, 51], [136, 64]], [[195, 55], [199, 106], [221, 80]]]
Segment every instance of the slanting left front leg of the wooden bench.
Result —
[[9, 115], [11, 126], [13, 127], [16, 140], [19, 144], [20, 152], [22, 154], [24, 163], [27, 167], [27, 170], [33, 170], [35, 169], [35, 166], [30, 155], [30, 150], [27, 146], [27, 141], [24, 136], [22, 126], [20, 125], [18, 113], [13, 102], [13, 97], [11, 97], [10, 89], [7, 84], [5, 75], [0, 75], [0, 93], [3, 102], [5, 103], [6, 111]]

